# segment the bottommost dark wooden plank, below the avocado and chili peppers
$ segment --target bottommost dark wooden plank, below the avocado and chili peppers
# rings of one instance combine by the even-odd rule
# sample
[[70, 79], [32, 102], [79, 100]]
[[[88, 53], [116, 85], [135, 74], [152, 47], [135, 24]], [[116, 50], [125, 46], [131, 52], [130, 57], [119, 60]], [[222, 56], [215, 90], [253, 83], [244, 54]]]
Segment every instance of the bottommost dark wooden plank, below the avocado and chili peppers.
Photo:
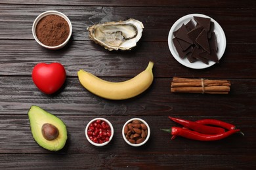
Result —
[[[10, 159], [16, 160], [15, 163]], [[0, 163], [6, 169], [254, 169], [255, 159], [255, 156], [187, 154], [0, 155]]]

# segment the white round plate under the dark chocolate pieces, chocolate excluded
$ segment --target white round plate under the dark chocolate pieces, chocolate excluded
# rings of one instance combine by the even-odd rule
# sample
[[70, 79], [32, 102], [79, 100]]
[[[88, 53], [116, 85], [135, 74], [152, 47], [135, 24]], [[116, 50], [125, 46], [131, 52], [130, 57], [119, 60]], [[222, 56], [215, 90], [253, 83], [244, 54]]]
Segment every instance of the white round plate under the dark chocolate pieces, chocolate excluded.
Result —
[[[168, 35], [168, 45], [169, 45], [171, 54], [173, 54], [173, 57], [177, 61], [179, 61], [179, 63], [181, 63], [182, 65], [184, 65], [186, 67], [190, 67], [192, 69], [205, 69], [207, 67], [211, 67], [212, 65], [214, 65], [215, 62], [209, 61], [209, 64], [205, 64], [202, 61], [196, 61], [194, 63], [190, 63], [190, 61], [188, 61], [188, 59], [186, 59], [186, 58], [182, 59], [179, 57], [179, 54], [173, 44], [173, 38], [174, 38], [173, 32], [177, 31], [177, 29], [179, 29], [182, 24], [187, 24], [191, 19], [194, 22], [194, 24], [196, 24], [196, 21], [194, 20], [193, 16], [211, 18], [211, 17], [203, 15], [203, 14], [188, 14], [186, 16], [183, 16], [182, 18], [177, 20], [177, 22], [175, 22], [175, 24], [173, 24], [173, 26], [171, 27], [171, 29], [169, 31], [169, 35]], [[219, 59], [221, 59], [224, 54], [224, 51], [226, 49], [226, 36], [224, 34], [224, 31], [223, 31], [221, 25], [219, 25], [215, 20], [213, 20], [213, 18], [211, 18], [211, 22], [214, 22], [213, 31], [215, 32], [215, 35], [217, 37], [217, 45], [218, 45], [217, 56]]]

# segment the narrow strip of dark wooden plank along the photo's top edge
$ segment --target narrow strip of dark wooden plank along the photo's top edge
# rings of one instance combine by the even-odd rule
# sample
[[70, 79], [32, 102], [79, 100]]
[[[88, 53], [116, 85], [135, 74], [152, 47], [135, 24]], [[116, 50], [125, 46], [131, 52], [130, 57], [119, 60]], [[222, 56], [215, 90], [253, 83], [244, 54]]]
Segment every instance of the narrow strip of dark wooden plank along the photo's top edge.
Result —
[[[179, 0], [158, 0], [158, 1], [113, 1], [113, 0], [99, 0], [99, 1], [65, 1], [65, 0], [56, 0], [56, 1], [34, 1], [34, 0], [3, 0], [1, 1], [2, 4], [20, 4], [20, 5], [72, 5], [72, 6], [81, 6], [81, 5], [97, 5], [97, 6], [128, 6], [128, 7], [204, 7], [204, 8], [256, 8], [255, 1], [208, 1], [205, 2], [203, 0], [199, 1], [179, 1]], [[1, 4], [0, 3], [0, 4]]]

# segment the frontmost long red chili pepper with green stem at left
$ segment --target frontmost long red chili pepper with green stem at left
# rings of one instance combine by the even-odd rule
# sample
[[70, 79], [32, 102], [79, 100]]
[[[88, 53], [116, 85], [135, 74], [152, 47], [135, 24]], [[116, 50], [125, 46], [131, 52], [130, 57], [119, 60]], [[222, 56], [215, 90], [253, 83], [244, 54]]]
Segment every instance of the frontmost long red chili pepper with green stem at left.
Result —
[[[161, 129], [163, 131], [167, 131], [169, 133], [171, 133], [171, 135], [173, 135], [173, 137], [175, 138], [176, 136], [181, 136], [181, 137], [185, 137], [188, 139], [194, 139], [197, 141], [217, 141], [220, 139], [224, 139], [225, 137], [228, 137], [238, 131], [240, 131], [240, 129], [232, 129], [230, 131], [226, 131], [224, 133], [219, 133], [219, 134], [214, 134], [214, 135], [207, 135], [207, 134], [202, 134], [202, 133], [198, 133], [196, 131], [192, 131], [189, 129], [182, 129], [181, 127], [171, 127], [171, 129]], [[174, 138], [171, 138], [172, 140]]]

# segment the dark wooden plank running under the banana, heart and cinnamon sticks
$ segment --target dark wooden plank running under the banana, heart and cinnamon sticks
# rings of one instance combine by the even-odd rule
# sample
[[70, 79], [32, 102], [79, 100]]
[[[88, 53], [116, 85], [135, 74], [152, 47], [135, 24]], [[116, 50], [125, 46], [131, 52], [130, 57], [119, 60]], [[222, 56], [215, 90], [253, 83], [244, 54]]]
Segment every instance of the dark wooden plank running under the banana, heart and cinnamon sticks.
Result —
[[[105, 80], [117, 81], [113, 78], [105, 78]], [[173, 114], [254, 117], [256, 80], [230, 81], [232, 84], [230, 94], [211, 95], [171, 93], [171, 78], [155, 78], [152, 86], [139, 96], [124, 101], [111, 101], [102, 99], [83, 88], [77, 77], [68, 78], [60, 93], [45, 95], [35, 87], [31, 77], [3, 76], [0, 80], [0, 114], [26, 114], [31, 105], [39, 105], [49, 112], [55, 112], [54, 114], [69, 115], [168, 116]]]

